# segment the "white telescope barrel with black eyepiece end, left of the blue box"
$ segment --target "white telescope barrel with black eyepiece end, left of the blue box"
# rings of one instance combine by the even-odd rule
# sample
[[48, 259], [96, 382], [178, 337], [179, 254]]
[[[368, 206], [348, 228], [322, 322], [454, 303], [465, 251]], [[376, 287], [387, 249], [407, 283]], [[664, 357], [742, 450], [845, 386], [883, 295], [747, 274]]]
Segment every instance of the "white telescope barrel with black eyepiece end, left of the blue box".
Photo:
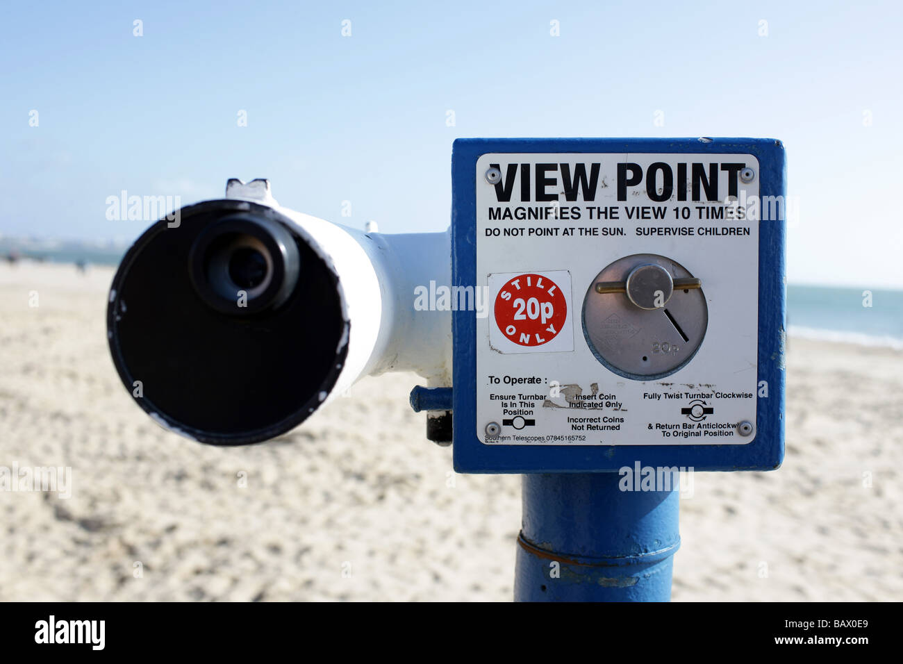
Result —
[[448, 233], [340, 227], [280, 207], [265, 180], [233, 179], [224, 199], [177, 210], [127, 251], [109, 347], [159, 424], [201, 443], [257, 443], [368, 374], [450, 380], [450, 313], [412, 306], [416, 285], [448, 284], [450, 270]]

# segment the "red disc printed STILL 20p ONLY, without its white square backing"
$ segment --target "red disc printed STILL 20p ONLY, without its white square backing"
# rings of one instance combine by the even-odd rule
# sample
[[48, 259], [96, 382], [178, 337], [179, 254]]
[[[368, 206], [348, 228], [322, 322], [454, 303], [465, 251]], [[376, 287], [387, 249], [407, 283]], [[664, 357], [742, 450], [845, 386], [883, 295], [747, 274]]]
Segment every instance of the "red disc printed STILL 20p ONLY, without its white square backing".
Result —
[[552, 341], [567, 320], [567, 301], [549, 277], [526, 274], [509, 279], [496, 296], [498, 329], [520, 346]]

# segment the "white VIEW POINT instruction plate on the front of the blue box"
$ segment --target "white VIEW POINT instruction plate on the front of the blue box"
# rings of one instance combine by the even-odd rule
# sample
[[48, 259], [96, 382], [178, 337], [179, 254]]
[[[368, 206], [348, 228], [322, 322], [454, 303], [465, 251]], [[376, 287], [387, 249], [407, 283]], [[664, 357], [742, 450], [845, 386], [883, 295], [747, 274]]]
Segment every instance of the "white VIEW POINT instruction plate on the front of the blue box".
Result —
[[[754, 156], [484, 154], [474, 178], [477, 285], [488, 291], [477, 317], [483, 444], [755, 438], [738, 426], [755, 426], [767, 389], [757, 384]], [[596, 292], [600, 275], [623, 284], [650, 264], [701, 280], [701, 290], [675, 281], [664, 306], [648, 310], [623, 292]]]

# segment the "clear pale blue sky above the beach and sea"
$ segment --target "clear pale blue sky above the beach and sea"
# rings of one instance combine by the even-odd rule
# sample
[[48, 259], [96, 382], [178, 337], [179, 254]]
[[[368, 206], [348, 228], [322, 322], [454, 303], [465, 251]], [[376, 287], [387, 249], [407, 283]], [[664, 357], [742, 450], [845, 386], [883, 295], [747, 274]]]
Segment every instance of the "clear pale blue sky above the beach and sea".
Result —
[[107, 196], [188, 204], [228, 177], [268, 177], [324, 219], [440, 230], [458, 136], [763, 136], [785, 142], [798, 201], [789, 280], [903, 287], [898, 3], [4, 0], [2, 14], [0, 233], [132, 239], [147, 223], [107, 220]]

